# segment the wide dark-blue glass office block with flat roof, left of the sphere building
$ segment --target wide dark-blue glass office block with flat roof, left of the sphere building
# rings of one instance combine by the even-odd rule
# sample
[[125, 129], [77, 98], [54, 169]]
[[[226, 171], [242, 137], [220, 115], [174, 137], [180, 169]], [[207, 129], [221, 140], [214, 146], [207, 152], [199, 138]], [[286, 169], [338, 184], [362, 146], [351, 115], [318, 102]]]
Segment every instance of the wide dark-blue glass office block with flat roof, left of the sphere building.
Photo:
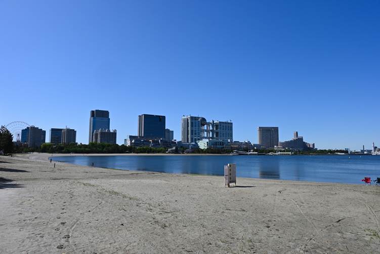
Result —
[[165, 139], [164, 115], [139, 115], [138, 136]]

